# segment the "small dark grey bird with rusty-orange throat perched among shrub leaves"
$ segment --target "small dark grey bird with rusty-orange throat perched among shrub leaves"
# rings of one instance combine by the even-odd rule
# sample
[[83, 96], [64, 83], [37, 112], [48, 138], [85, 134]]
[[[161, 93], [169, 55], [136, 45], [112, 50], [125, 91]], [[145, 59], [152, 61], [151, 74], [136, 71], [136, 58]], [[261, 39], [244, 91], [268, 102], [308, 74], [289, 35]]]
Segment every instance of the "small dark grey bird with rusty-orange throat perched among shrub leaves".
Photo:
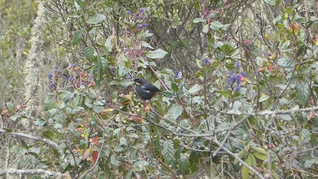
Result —
[[139, 95], [139, 97], [142, 98], [143, 100], [149, 100], [152, 97], [154, 97], [156, 93], [158, 92], [161, 93], [160, 89], [155, 87], [153, 84], [151, 84], [144, 78], [134, 79], [134, 82], [136, 84], [136, 88], [135, 88], [136, 92]]

